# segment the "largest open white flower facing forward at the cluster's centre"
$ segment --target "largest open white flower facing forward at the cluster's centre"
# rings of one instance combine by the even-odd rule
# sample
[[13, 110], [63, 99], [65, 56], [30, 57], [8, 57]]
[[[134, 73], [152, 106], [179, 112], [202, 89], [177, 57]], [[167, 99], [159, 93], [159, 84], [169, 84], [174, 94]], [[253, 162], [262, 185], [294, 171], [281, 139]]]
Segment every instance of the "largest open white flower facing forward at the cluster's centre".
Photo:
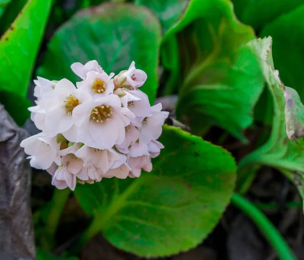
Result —
[[75, 107], [72, 116], [79, 127], [79, 142], [101, 150], [123, 143], [129, 117], [135, 117], [113, 94]]

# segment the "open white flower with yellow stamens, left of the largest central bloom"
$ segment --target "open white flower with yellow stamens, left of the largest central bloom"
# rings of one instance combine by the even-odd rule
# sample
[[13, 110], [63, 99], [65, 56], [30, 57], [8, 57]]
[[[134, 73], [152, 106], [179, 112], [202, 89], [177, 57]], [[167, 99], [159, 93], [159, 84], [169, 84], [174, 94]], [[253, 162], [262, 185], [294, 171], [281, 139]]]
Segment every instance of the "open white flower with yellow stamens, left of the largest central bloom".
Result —
[[[78, 90], [67, 79], [61, 79], [54, 91], [45, 94], [42, 104], [46, 110], [45, 127], [50, 135], [63, 134], [71, 142], [77, 142], [77, 130], [73, 126], [72, 113], [75, 107], [92, 97]], [[70, 129], [73, 126], [72, 129]]]

